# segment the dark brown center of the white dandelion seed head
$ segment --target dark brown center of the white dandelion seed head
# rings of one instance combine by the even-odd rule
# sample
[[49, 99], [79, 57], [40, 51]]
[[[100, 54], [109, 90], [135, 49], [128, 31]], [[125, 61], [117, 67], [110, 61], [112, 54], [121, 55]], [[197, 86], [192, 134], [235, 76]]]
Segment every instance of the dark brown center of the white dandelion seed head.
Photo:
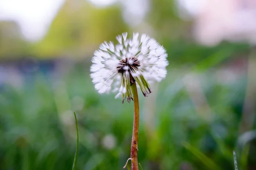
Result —
[[125, 57], [120, 60], [116, 69], [118, 73], [124, 73], [125, 71], [136, 71], [140, 67], [140, 61], [136, 57]]

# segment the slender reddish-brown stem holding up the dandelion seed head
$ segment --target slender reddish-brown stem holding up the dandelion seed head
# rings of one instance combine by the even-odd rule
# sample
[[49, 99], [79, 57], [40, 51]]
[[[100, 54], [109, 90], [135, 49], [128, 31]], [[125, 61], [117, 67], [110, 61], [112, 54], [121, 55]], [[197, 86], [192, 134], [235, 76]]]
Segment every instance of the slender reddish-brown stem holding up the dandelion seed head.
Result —
[[131, 139], [131, 170], [139, 170], [138, 167], [138, 138], [139, 138], [139, 98], [136, 83], [131, 83], [131, 90], [134, 98], [134, 125]]

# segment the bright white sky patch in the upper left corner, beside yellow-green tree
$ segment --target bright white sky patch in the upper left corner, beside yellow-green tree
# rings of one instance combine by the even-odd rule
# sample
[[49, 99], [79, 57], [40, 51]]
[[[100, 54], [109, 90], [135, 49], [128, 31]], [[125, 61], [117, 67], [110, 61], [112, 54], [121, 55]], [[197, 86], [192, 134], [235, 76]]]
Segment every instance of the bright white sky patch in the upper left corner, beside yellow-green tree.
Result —
[[28, 40], [38, 40], [48, 30], [64, 0], [0, 0], [0, 20], [15, 20]]

